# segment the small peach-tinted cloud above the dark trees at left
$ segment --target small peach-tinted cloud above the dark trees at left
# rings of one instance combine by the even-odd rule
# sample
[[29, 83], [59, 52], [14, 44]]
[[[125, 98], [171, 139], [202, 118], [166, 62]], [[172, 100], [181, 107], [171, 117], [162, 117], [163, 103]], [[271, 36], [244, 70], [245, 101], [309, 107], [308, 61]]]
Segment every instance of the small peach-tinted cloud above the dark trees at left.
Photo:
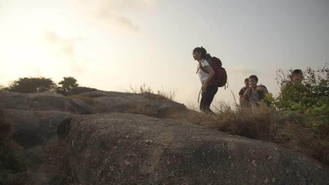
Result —
[[45, 38], [48, 43], [56, 48], [56, 50], [67, 57], [70, 63], [70, 69], [74, 70], [77, 73], [83, 72], [85, 69], [77, 62], [78, 55], [75, 52], [75, 43], [78, 41], [82, 41], [81, 38], [69, 38], [67, 40], [59, 38], [59, 36], [54, 32], [46, 32]]

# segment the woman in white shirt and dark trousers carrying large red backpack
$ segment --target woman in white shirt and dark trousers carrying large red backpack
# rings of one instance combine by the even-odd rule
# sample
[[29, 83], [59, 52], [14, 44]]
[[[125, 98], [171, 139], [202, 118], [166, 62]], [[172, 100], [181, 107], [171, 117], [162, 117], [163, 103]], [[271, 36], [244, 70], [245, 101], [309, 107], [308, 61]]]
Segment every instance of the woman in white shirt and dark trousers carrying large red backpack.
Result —
[[211, 57], [203, 47], [196, 47], [193, 49], [193, 58], [198, 62], [196, 73], [202, 84], [200, 89], [202, 98], [199, 108], [204, 113], [214, 114], [210, 109], [210, 105], [218, 91], [218, 87], [226, 87], [226, 71], [222, 68], [221, 60], [216, 57]]

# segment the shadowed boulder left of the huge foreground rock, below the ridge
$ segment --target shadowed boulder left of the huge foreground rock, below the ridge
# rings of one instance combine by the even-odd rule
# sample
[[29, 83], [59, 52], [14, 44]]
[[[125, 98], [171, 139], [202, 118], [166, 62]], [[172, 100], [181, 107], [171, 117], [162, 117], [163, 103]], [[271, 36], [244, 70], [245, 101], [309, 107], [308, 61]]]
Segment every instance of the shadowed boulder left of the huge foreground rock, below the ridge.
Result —
[[25, 149], [41, 145], [57, 136], [57, 126], [74, 115], [65, 112], [6, 110], [7, 118], [13, 124], [13, 139]]

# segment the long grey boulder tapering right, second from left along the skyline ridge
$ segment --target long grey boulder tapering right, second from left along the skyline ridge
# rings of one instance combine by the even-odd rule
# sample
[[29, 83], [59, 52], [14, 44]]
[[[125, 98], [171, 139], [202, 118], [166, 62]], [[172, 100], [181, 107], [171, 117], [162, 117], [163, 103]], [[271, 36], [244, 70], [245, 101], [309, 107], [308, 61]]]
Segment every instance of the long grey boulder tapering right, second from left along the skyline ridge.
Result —
[[72, 101], [60, 94], [55, 93], [31, 93], [29, 94], [31, 102], [31, 110], [33, 111], [62, 111], [73, 114], [92, 114], [89, 107], [85, 107], [81, 103]]

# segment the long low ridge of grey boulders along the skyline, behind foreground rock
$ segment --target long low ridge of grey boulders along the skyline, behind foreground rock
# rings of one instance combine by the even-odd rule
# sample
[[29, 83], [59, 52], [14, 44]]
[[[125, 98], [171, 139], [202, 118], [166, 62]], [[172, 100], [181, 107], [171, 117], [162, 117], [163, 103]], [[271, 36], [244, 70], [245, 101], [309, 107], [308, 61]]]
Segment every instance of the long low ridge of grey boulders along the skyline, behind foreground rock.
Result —
[[5, 100], [5, 107], [8, 109], [61, 111], [78, 115], [127, 112], [142, 114], [140, 110], [143, 110], [143, 113], [147, 113], [148, 116], [163, 118], [170, 113], [187, 110], [184, 104], [151, 93], [133, 94], [84, 90], [88, 93], [71, 97], [51, 92], [30, 94], [2, 92], [1, 95]]

